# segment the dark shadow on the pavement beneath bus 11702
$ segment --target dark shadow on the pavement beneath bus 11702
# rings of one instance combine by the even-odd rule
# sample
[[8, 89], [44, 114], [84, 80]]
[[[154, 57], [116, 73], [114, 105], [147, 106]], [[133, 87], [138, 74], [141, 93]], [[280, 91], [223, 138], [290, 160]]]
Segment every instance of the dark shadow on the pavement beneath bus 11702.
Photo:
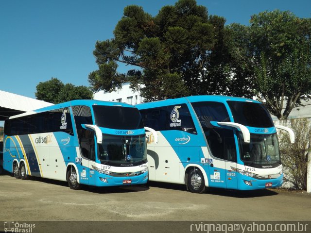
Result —
[[[148, 185], [152, 187], [157, 187], [157, 188], [187, 191], [186, 185], [184, 184], [148, 182]], [[218, 196], [233, 197], [233, 198], [256, 198], [256, 197], [274, 196], [274, 195], [278, 195], [278, 193], [271, 189], [242, 191], [242, 190], [207, 187], [206, 191], [203, 194], [198, 194], [198, 195], [218, 195]]]

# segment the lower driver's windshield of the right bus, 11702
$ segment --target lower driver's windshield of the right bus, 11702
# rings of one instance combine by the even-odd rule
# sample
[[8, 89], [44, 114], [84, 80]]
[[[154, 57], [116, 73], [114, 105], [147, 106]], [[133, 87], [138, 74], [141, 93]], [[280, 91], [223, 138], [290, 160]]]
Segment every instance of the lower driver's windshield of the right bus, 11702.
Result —
[[250, 143], [245, 143], [239, 132], [240, 156], [245, 165], [271, 165], [280, 163], [276, 133], [250, 134]]

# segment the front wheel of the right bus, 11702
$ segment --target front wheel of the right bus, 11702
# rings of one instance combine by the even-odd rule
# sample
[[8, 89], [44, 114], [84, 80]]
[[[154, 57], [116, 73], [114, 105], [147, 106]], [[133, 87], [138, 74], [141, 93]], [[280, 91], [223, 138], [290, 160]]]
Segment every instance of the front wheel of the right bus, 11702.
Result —
[[206, 189], [206, 177], [197, 166], [189, 166], [185, 171], [185, 184], [187, 190], [192, 193], [204, 193]]

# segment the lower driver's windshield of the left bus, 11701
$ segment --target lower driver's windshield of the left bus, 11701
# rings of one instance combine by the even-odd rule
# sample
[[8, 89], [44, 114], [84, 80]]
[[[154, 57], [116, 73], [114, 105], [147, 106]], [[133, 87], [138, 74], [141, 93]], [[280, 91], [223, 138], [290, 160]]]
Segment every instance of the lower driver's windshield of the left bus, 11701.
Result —
[[110, 166], [138, 166], [147, 162], [145, 134], [119, 136], [103, 133], [98, 159]]

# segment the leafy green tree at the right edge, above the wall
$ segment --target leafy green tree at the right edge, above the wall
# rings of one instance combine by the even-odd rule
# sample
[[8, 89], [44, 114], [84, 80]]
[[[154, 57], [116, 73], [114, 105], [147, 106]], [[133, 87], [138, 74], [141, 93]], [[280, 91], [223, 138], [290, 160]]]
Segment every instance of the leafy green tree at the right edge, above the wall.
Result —
[[233, 78], [248, 83], [270, 113], [287, 119], [295, 105], [310, 99], [310, 18], [276, 10], [252, 16], [250, 26], [228, 29]]

